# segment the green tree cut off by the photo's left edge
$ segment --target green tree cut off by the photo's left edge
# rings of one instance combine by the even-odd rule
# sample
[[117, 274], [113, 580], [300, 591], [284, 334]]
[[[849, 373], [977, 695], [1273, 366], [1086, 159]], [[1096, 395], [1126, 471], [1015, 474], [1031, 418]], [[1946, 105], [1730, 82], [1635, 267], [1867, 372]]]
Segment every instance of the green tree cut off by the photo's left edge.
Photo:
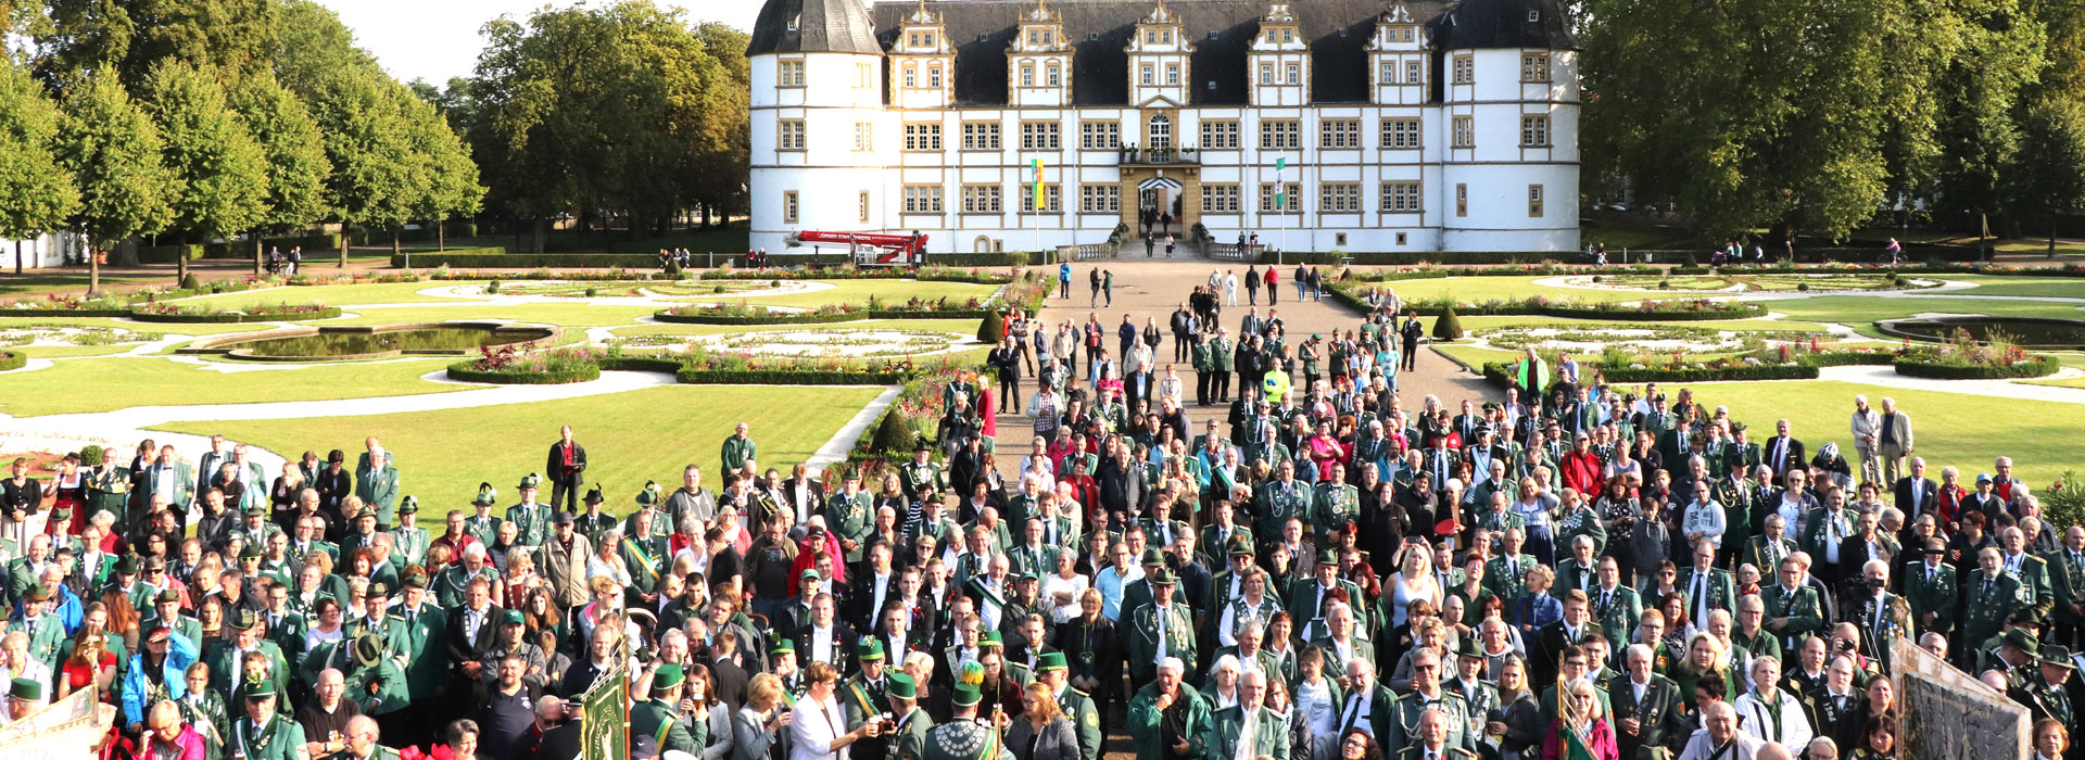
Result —
[[58, 229], [79, 208], [73, 175], [58, 167], [58, 106], [23, 67], [0, 58], [0, 237], [21, 242]]

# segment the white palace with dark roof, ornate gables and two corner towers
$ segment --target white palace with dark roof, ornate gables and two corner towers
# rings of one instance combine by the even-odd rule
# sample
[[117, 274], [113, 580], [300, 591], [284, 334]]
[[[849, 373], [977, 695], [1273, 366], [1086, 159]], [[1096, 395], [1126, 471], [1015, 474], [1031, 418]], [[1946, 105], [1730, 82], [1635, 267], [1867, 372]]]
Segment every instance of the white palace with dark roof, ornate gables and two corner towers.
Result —
[[1040, 250], [1176, 208], [1182, 239], [1286, 250], [1578, 248], [1553, 0], [765, 0], [749, 56], [769, 252]]

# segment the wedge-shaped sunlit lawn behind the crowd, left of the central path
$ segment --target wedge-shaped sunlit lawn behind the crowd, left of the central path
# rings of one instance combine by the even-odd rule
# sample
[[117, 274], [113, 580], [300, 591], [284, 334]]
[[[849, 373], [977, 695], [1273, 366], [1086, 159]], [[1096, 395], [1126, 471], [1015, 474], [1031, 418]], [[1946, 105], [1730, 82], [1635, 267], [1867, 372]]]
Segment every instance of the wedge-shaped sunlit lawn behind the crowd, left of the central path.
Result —
[[[738, 423], [753, 425], [761, 464], [809, 458], [855, 416], [876, 387], [738, 387], [661, 385], [628, 394], [538, 404], [500, 404], [436, 412], [332, 416], [313, 421], [179, 423], [173, 431], [223, 433], [231, 439], [298, 456], [304, 450], [359, 450], [377, 435], [398, 454], [402, 491], [417, 496], [421, 527], [440, 527], [450, 508], [465, 508], [480, 481], [515, 498], [515, 481], [542, 473], [557, 427], [571, 425], [586, 446], [586, 481], [603, 483], [607, 510], [626, 514], [644, 481], [663, 489], [680, 483], [684, 464], [703, 466], [717, 487], [719, 444]], [[540, 444], [540, 446], [538, 446]], [[548, 498], [548, 496], [544, 496]]]

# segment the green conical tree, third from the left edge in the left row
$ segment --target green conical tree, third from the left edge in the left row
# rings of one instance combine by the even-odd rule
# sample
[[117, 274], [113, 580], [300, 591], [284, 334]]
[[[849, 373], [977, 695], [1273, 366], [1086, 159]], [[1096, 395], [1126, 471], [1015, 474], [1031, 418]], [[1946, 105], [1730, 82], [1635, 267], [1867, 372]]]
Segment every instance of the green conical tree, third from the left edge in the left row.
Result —
[[[269, 160], [225, 100], [217, 71], [169, 58], [148, 77], [148, 110], [165, 140], [167, 169], [179, 177], [175, 229], [229, 242], [267, 217]], [[188, 256], [175, 256], [188, 277]]]

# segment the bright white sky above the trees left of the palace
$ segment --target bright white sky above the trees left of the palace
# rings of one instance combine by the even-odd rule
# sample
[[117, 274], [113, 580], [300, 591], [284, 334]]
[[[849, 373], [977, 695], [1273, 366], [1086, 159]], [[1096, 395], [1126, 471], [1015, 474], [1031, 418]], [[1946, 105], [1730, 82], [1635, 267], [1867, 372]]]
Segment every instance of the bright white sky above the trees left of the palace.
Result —
[[[607, 0], [594, 0], [600, 6]], [[500, 15], [528, 19], [546, 0], [319, 0], [354, 29], [354, 42], [377, 56], [400, 81], [427, 79], [444, 83], [467, 77], [477, 67], [484, 37], [477, 27]], [[569, 6], [573, 0], [557, 0]], [[723, 21], [751, 29], [761, 12], [761, 0], [659, 0], [680, 6], [690, 21]]]

